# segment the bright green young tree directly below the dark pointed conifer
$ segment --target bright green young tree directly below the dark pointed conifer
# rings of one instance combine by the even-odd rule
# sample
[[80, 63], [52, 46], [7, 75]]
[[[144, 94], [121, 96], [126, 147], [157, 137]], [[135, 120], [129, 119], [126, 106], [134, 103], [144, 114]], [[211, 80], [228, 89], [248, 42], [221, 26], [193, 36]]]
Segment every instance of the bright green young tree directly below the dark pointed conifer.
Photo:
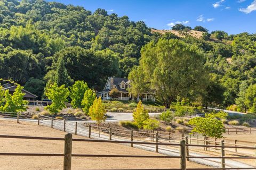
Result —
[[50, 113], [56, 114], [63, 108], [66, 108], [65, 102], [69, 96], [69, 90], [68, 88], [65, 88], [64, 84], [60, 87], [58, 87], [57, 83], [46, 84], [45, 95], [52, 100], [52, 104], [44, 108]]

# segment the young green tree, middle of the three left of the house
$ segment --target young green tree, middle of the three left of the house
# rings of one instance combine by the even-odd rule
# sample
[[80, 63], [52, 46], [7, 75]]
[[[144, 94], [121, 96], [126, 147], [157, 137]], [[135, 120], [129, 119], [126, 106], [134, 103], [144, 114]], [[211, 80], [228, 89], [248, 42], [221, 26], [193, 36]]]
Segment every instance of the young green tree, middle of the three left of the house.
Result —
[[[89, 89], [84, 81], [76, 81], [70, 89], [71, 105], [73, 108], [82, 108], [82, 100], [84, 99], [85, 91]], [[88, 108], [89, 109], [89, 108]]]

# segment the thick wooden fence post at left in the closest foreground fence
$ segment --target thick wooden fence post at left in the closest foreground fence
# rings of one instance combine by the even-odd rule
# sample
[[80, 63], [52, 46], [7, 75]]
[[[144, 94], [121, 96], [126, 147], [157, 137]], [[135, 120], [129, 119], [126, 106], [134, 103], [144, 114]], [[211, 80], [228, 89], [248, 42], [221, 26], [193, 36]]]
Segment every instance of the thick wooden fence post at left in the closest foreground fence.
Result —
[[72, 134], [65, 135], [65, 151], [64, 151], [64, 166], [63, 170], [71, 170], [72, 157]]

